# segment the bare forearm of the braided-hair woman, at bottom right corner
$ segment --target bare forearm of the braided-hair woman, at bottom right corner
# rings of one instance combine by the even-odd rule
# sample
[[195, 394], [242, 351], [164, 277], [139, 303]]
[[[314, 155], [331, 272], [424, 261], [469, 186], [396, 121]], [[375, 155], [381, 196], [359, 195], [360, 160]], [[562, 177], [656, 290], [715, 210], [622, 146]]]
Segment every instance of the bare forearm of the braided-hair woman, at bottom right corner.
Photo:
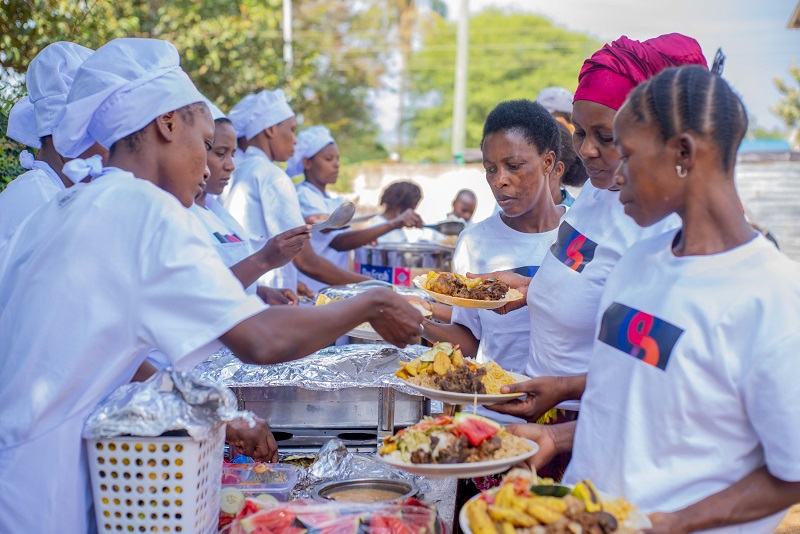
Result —
[[775, 514], [800, 502], [800, 482], [785, 482], [766, 467], [682, 510], [650, 514], [645, 534], [684, 534], [737, 525]]

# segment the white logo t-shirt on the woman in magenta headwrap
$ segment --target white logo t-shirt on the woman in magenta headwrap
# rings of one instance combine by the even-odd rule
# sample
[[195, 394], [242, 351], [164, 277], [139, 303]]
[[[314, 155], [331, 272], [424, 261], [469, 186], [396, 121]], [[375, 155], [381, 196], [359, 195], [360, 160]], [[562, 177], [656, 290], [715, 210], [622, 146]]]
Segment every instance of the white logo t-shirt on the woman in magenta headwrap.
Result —
[[631, 245], [679, 225], [678, 216], [672, 215], [642, 228], [625, 215], [619, 191], [597, 189], [587, 182], [562, 219], [558, 238], [528, 289], [531, 345], [525, 374], [586, 373], [608, 273]]

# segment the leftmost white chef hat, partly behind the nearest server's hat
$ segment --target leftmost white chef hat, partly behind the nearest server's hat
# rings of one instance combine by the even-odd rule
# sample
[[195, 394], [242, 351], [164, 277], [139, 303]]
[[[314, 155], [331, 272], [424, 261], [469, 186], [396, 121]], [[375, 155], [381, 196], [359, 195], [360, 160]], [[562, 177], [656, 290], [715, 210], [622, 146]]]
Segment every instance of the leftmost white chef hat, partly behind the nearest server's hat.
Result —
[[53, 133], [78, 67], [92, 50], [75, 43], [47, 45], [28, 65], [28, 96], [14, 105], [8, 116], [8, 136], [26, 146], [41, 148], [40, 137]]

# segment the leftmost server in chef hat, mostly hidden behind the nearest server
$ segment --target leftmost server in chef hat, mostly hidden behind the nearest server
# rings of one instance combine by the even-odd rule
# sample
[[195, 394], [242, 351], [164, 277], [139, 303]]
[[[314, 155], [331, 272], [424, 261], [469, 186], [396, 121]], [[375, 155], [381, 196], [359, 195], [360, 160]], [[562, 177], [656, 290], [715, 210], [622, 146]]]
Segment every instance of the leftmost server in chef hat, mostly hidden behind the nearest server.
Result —
[[[92, 51], [75, 43], [53, 43], [42, 49], [28, 66], [25, 85], [28, 96], [22, 97], [8, 117], [8, 137], [26, 146], [38, 148], [34, 157], [26, 150], [20, 155], [22, 166], [29, 169], [0, 193], [0, 250], [17, 226], [28, 215], [72, 185], [61, 171], [69, 161], [53, 147], [52, 132], [58, 114], [67, 100], [75, 71]], [[98, 144], [87, 147], [80, 157], [105, 156]]]

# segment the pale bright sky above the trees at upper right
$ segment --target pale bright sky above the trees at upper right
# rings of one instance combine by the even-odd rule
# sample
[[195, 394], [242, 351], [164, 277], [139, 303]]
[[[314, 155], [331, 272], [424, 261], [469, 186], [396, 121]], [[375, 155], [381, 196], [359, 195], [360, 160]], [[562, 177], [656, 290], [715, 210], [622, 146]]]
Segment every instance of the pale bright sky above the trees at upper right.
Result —
[[[460, 0], [445, 0], [450, 17]], [[769, 111], [780, 95], [776, 76], [800, 63], [800, 30], [786, 24], [798, 0], [470, 0], [474, 13], [494, 6], [538, 13], [556, 24], [610, 41], [620, 35], [647, 39], [679, 32], [700, 42], [713, 59], [727, 55], [724, 76], [742, 95], [759, 125], [780, 126]], [[535, 95], [533, 95], [535, 96]]]

